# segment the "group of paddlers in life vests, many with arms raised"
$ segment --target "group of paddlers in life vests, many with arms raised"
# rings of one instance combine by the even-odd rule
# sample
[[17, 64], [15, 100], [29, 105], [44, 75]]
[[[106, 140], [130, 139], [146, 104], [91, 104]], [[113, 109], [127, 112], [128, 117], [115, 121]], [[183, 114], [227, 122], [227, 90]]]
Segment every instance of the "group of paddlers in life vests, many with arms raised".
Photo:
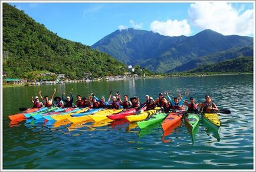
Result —
[[[205, 95], [205, 101], [197, 104], [193, 97], [189, 98], [189, 102], [185, 99], [188, 96], [189, 92], [185, 92], [185, 96], [182, 97], [181, 94], [178, 94], [178, 97], [170, 98], [169, 93], [165, 92], [166, 97], [162, 92], [159, 93], [159, 97], [154, 100], [153, 97], [146, 95], [146, 100], [142, 104], [140, 104], [138, 97], [131, 97], [129, 100], [128, 95], [123, 95], [124, 101], [122, 101], [121, 95], [117, 92], [115, 95], [112, 95], [112, 91], [110, 92], [109, 98], [106, 101], [104, 97], [100, 99], [97, 98], [93, 93], [88, 95], [88, 98], [81, 97], [81, 95], [77, 95], [77, 101], [74, 103], [73, 94], [70, 91], [70, 96], [64, 98], [65, 92], [62, 94], [61, 97], [54, 97], [56, 89], [51, 95], [51, 98], [48, 95], [42, 97], [41, 91], [39, 91], [40, 98], [42, 102], [39, 100], [38, 96], [31, 98], [34, 108], [41, 108], [41, 107], [90, 107], [90, 108], [114, 108], [114, 109], [129, 109], [129, 108], [136, 108], [146, 106], [146, 110], [155, 109], [155, 107], [162, 108], [163, 111], [170, 111], [170, 110], [185, 110], [185, 105], [188, 107], [187, 111], [198, 112], [198, 108], [200, 107], [199, 111], [218, 111], [218, 107], [214, 102], [212, 102], [212, 98], [209, 95]], [[54, 97], [54, 98], [53, 98]], [[54, 102], [52, 102], [54, 100]], [[168, 101], [169, 100], [169, 101]], [[183, 105], [185, 104], [185, 105]]]

